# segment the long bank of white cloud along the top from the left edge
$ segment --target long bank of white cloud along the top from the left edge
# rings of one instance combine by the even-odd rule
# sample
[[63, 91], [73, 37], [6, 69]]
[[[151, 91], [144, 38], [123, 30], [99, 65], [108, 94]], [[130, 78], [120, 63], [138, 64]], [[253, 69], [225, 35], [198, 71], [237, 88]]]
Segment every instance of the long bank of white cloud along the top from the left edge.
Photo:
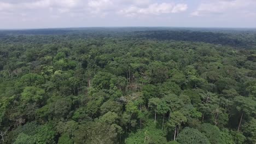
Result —
[[[187, 10], [187, 4], [153, 3], [153, 0], [0, 0], [0, 11], [5, 13], [36, 13], [52, 15], [81, 14], [104, 17], [108, 14], [125, 16], [143, 14], [160, 15], [180, 13]], [[66, 15], [68, 16], [68, 15]]]

